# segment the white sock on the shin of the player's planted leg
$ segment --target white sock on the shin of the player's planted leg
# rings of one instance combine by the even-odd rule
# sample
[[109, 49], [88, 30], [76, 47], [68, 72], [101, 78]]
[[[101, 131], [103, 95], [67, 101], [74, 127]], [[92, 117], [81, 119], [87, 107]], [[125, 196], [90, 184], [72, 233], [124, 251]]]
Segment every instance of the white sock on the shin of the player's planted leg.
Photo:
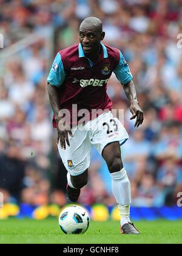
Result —
[[113, 172], [110, 175], [112, 177], [112, 192], [120, 210], [122, 227], [124, 224], [130, 222], [130, 181], [124, 168], [121, 169], [121, 171]]

